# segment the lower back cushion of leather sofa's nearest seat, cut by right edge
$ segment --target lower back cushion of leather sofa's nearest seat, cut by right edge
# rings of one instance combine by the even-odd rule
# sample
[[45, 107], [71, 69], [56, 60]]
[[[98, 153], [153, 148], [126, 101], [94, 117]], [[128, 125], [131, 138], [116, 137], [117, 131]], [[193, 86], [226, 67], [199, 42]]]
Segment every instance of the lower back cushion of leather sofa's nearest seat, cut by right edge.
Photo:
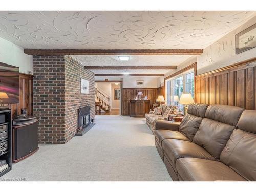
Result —
[[[253, 125], [252, 125], [253, 126]], [[254, 126], [256, 126], [254, 124]], [[235, 129], [220, 161], [249, 181], [256, 180], [256, 134]]]

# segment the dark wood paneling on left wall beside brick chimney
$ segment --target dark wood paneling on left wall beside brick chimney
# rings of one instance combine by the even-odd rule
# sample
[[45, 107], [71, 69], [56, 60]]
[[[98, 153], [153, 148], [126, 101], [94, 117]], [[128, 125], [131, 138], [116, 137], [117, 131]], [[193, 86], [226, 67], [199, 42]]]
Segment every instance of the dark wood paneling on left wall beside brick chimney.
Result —
[[[33, 115], [33, 75], [19, 73], [19, 103], [9, 104], [12, 118], [20, 114], [20, 109], [26, 108], [27, 114]], [[7, 106], [7, 104], [3, 104]]]

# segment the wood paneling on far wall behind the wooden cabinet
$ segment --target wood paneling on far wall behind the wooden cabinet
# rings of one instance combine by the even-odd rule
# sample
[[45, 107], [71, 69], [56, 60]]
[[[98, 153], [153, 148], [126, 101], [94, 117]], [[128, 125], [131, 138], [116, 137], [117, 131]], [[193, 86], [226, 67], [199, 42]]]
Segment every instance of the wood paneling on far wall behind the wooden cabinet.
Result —
[[130, 115], [130, 100], [135, 99], [139, 91], [142, 91], [143, 97], [148, 97], [151, 105], [156, 103], [158, 88], [123, 88], [122, 115]]

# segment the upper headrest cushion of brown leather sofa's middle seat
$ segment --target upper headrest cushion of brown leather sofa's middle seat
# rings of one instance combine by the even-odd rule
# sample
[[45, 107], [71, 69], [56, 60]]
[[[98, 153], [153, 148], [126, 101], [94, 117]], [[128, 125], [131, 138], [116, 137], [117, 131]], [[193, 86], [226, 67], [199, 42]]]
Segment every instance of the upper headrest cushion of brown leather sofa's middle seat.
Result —
[[236, 126], [244, 110], [244, 108], [239, 108], [238, 106], [210, 105], [205, 112], [205, 117]]

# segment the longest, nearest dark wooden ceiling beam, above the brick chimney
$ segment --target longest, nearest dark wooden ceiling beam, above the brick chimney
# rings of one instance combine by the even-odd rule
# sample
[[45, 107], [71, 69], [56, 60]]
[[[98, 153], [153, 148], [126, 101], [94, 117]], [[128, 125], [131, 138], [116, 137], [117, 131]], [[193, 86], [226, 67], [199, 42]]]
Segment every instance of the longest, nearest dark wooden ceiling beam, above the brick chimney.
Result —
[[24, 49], [28, 55], [200, 55], [203, 49]]

